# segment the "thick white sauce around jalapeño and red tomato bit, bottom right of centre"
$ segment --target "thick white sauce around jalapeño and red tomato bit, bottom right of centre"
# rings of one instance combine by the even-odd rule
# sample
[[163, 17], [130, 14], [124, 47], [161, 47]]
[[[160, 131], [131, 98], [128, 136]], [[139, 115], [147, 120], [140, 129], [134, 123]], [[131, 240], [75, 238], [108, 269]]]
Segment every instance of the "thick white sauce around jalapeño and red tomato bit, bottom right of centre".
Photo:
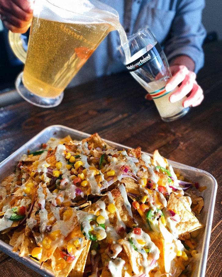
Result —
[[[145, 274], [148, 274], [151, 268], [154, 267], [154, 266], [152, 267], [150, 266], [152, 260], [153, 259], [158, 260], [159, 258], [158, 247], [156, 247], [156, 245], [151, 241], [150, 236], [147, 233], [145, 233], [143, 230], [141, 230], [141, 235], [134, 234], [134, 233], [127, 234], [127, 236], [125, 237], [125, 240], [129, 240], [129, 239], [132, 240], [132, 243], [137, 248], [137, 251], [143, 256], [143, 259], [140, 264], [143, 268], [142, 272]], [[137, 240], [143, 240], [145, 242], [145, 245], [142, 246], [140, 243], [138, 243]], [[149, 254], [145, 252], [144, 248], [150, 249]]]

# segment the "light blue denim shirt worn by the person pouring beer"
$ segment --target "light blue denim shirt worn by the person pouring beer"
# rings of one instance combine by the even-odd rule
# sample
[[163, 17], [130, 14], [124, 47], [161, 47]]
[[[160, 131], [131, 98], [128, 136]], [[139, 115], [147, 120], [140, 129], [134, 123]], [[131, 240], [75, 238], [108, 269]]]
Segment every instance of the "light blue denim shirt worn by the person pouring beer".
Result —
[[[100, 1], [117, 10], [127, 36], [148, 25], [164, 48], [168, 61], [178, 55], [187, 55], [195, 62], [196, 73], [203, 66], [202, 43], [206, 31], [201, 20], [204, 0]], [[118, 32], [112, 31], [69, 86], [126, 70], [116, 49], [118, 45], [120, 45]]]

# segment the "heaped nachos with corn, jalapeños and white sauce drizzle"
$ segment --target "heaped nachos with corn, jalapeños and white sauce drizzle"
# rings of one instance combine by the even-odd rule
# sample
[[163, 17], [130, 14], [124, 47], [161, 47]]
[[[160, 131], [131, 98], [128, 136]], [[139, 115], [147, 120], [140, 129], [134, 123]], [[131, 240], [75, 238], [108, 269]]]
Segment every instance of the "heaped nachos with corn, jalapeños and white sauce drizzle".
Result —
[[55, 276], [188, 277], [204, 227], [193, 186], [157, 150], [51, 138], [2, 180], [1, 237]]

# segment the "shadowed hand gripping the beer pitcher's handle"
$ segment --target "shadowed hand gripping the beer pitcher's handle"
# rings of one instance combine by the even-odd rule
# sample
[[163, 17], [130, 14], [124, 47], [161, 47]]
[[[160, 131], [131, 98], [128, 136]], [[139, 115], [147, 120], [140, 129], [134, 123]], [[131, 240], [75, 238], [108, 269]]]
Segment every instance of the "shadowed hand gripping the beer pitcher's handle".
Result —
[[0, 0], [0, 19], [13, 33], [24, 34], [33, 16], [32, 0]]

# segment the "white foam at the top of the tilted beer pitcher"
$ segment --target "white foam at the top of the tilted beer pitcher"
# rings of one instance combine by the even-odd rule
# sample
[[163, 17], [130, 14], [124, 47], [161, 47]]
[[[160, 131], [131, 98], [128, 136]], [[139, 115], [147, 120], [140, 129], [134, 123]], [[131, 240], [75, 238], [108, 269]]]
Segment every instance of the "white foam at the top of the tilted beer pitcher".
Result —
[[61, 23], [101, 23], [101, 20], [118, 20], [118, 13], [114, 9], [96, 0], [38, 0], [35, 1], [33, 14], [41, 19]]

